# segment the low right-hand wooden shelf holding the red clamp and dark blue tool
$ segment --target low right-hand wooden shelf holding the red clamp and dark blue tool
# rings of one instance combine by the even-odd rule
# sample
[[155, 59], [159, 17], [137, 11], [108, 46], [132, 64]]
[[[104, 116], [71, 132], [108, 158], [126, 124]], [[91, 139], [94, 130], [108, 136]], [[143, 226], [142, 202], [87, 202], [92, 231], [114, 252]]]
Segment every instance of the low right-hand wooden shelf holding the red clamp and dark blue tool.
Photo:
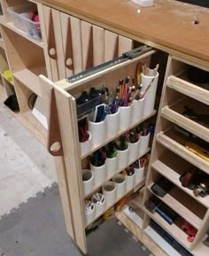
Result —
[[191, 243], [187, 240], [187, 235], [180, 228], [182, 226], [183, 219], [178, 218], [172, 225], [169, 225], [158, 213], [151, 213], [145, 207], [143, 207], [145, 213], [150, 216], [153, 221], [156, 221], [163, 229], [166, 230], [179, 244], [182, 244], [187, 249], [190, 249]]

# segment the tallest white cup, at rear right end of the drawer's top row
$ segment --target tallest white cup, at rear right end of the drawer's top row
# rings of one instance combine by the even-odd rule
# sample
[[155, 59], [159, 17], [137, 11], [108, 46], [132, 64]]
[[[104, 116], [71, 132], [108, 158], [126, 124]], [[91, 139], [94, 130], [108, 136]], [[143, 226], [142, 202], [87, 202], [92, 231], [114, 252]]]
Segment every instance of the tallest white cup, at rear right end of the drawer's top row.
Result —
[[[153, 72], [153, 70], [151, 69], [149, 71], [149, 74], [152, 74], [152, 72]], [[152, 81], [153, 78], [154, 78], [154, 81]], [[152, 81], [152, 83], [151, 83], [151, 81]], [[159, 73], [157, 73], [155, 76], [153, 76], [153, 75], [149, 76], [149, 75], [142, 74], [143, 88], [141, 89], [141, 93], [143, 93], [148, 88], [149, 84], [151, 83], [151, 87], [147, 90], [147, 92], [144, 96], [143, 117], [150, 115], [154, 111], [158, 81], [159, 81]]]

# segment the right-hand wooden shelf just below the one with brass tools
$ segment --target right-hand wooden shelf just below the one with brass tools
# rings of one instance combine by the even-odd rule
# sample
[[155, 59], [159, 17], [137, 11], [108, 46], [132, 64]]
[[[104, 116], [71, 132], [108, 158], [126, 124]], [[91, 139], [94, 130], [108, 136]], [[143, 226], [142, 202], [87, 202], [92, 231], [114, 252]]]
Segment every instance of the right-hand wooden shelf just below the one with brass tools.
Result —
[[[148, 189], [152, 194], [158, 197], [151, 190], [151, 186], [153, 184], [154, 183], [152, 182], [148, 186]], [[171, 191], [166, 193], [164, 198], [158, 198], [171, 209], [173, 209], [174, 212], [178, 213], [184, 220], [190, 222], [196, 229], [200, 228], [205, 216], [206, 209], [204, 206], [197, 206], [197, 204], [195, 204], [195, 200], [186, 195], [182, 190], [174, 187]]]

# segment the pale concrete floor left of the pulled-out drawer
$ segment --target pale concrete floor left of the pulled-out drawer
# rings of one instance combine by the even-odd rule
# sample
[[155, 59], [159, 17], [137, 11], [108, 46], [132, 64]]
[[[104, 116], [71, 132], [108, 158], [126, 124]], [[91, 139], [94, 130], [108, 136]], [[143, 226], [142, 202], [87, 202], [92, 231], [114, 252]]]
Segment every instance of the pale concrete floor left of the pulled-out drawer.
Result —
[[57, 181], [53, 159], [4, 106], [0, 85], [0, 218]]

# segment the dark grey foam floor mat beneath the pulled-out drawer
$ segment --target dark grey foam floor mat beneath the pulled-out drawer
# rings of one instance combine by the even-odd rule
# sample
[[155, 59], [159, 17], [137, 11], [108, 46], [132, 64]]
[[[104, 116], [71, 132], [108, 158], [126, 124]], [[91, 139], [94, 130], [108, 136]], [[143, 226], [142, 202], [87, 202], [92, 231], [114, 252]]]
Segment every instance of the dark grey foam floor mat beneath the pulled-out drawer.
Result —
[[[87, 240], [89, 256], [150, 254], [115, 219], [104, 222]], [[81, 256], [66, 234], [57, 183], [4, 215], [0, 220], [0, 248], [1, 256]]]

